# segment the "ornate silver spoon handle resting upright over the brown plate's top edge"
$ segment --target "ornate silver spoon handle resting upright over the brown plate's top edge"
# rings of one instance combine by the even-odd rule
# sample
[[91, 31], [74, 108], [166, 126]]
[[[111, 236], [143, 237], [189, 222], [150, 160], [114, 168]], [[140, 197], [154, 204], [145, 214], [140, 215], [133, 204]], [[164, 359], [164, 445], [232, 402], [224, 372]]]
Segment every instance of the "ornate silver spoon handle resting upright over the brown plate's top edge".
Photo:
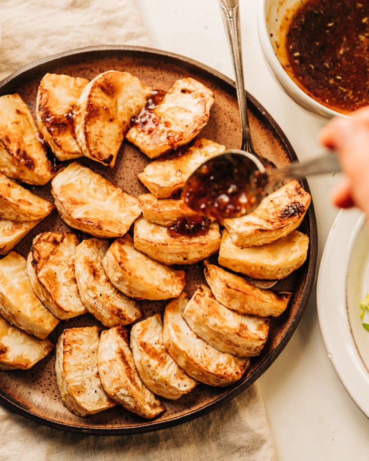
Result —
[[235, 74], [237, 101], [242, 128], [243, 151], [254, 152], [251, 139], [251, 131], [247, 113], [246, 92], [244, 84], [242, 52], [241, 52], [241, 29], [239, 20], [238, 0], [218, 0], [220, 12], [227, 33], [227, 39], [232, 56], [233, 71]]

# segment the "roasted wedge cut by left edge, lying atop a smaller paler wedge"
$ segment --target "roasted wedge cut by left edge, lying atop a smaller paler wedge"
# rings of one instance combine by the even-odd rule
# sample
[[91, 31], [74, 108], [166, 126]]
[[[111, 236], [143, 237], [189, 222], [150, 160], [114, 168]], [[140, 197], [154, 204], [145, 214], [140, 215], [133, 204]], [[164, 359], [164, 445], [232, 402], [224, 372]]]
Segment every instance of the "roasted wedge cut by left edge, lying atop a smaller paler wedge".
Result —
[[0, 173], [0, 218], [36, 221], [45, 218], [54, 205]]

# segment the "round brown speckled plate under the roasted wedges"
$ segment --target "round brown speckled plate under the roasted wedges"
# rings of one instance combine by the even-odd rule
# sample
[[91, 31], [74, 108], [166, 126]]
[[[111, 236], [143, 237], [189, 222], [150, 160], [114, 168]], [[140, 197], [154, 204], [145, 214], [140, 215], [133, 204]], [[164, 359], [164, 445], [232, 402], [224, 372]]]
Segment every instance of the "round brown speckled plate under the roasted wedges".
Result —
[[[240, 147], [241, 130], [234, 83], [198, 62], [163, 51], [127, 46], [103, 46], [69, 51], [31, 63], [13, 73], [0, 82], [0, 95], [19, 93], [34, 114], [37, 88], [46, 72], [92, 79], [109, 69], [131, 72], [144, 84], [163, 90], [168, 90], [175, 80], [185, 76], [201, 81], [215, 94], [209, 123], [201, 135], [224, 144], [227, 148]], [[256, 151], [277, 165], [296, 159], [296, 154], [278, 125], [250, 95], [248, 105]], [[80, 161], [134, 195], [146, 191], [137, 179], [136, 173], [143, 169], [148, 160], [127, 142], [123, 143], [113, 169], [100, 166], [87, 158]], [[303, 181], [303, 185], [309, 190], [306, 182]], [[49, 186], [33, 187], [32, 191], [51, 199], [49, 189]], [[68, 230], [56, 211], [34, 228], [15, 250], [26, 256], [33, 237], [40, 232], [51, 230]], [[250, 368], [238, 383], [227, 388], [199, 385], [178, 401], [162, 399], [167, 411], [154, 421], [146, 421], [120, 406], [88, 418], [79, 418], [61, 403], [55, 379], [55, 359], [51, 353], [30, 370], [0, 371], [0, 403], [46, 426], [100, 435], [133, 434], [163, 429], [194, 419], [220, 405], [226, 405], [227, 401], [250, 386], [273, 363], [299, 323], [316, 267], [317, 229], [313, 205], [308, 210], [301, 230], [310, 237], [307, 261], [302, 268], [275, 287], [292, 290], [292, 300], [287, 310], [272, 320], [268, 341], [262, 354], [252, 359]], [[194, 285], [200, 281], [202, 270], [199, 264], [192, 266], [188, 271], [186, 291], [191, 294]], [[141, 305], [145, 314], [150, 315], [153, 312], [162, 312], [165, 303], [142, 301]], [[63, 328], [94, 323], [96, 320], [89, 314], [60, 322], [50, 335], [50, 339], [55, 343]]]

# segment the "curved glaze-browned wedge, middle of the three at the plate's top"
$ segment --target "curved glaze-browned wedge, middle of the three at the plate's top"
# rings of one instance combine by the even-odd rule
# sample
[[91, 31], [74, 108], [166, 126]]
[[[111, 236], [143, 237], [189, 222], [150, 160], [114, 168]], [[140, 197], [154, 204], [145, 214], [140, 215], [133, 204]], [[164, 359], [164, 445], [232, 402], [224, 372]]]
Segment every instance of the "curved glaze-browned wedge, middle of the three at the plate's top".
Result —
[[129, 72], [108, 70], [91, 80], [75, 109], [75, 133], [83, 154], [114, 166], [131, 119], [146, 105], [151, 91]]

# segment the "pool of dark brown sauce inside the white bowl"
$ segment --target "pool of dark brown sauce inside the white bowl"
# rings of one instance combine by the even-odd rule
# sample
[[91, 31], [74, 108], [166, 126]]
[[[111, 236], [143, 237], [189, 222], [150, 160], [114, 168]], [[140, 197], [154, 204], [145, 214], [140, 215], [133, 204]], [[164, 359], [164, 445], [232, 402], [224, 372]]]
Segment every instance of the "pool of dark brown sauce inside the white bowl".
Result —
[[287, 71], [341, 113], [369, 104], [368, 16], [368, 0], [306, 0], [287, 31]]

